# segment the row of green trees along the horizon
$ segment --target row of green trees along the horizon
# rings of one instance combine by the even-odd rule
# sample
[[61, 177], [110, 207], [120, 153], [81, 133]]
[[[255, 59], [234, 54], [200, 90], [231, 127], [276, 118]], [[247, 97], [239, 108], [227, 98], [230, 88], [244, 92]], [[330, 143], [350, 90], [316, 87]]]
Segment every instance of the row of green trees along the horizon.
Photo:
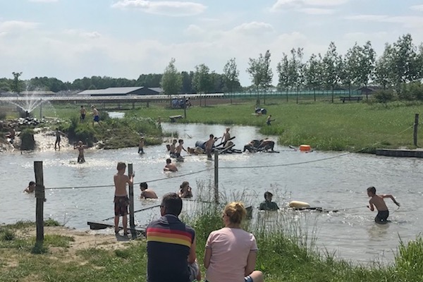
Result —
[[[245, 70], [251, 85], [241, 87], [238, 66], [235, 58], [223, 66], [223, 73], [210, 71], [204, 63], [195, 66], [194, 71], [178, 71], [176, 59], [171, 59], [164, 73], [142, 74], [137, 80], [92, 76], [62, 82], [56, 78], [32, 78], [20, 81], [21, 73], [13, 73], [13, 78], [0, 78], [0, 90], [20, 92], [22, 90], [94, 90], [107, 87], [161, 87], [166, 94], [238, 92], [253, 90], [257, 98], [270, 88], [279, 91], [300, 92], [301, 90], [333, 90], [344, 87], [379, 86], [405, 94], [410, 82], [420, 87], [423, 79], [423, 44], [418, 47], [410, 34], [402, 35], [396, 42], [386, 43], [381, 56], [377, 57], [370, 41], [360, 46], [355, 43], [346, 54], [338, 54], [336, 44], [331, 42], [324, 54], [312, 54], [307, 60], [302, 48], [293, 48], [288, 54], [282, 53], [276, 66], [277, 85], [271, 69], [271, 52], [267, 50], [258, 58], [250, 58]], [[24, 89], [25, 87], [25, 89]], [[333, 99], [333, 95], [332, 95]]]

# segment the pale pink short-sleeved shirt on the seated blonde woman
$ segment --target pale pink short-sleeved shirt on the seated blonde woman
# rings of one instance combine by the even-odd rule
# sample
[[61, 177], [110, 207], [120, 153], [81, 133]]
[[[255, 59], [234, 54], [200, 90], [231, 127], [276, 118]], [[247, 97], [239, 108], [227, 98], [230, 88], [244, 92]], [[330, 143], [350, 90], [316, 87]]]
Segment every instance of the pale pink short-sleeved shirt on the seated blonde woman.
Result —
[[244, 281], [247, 257], [250, 252], [258, 251], [254, 235], [240, 228], [228, 227], [210, 233], [206, 247], [212, 249], [206, 271], [209, 282]]

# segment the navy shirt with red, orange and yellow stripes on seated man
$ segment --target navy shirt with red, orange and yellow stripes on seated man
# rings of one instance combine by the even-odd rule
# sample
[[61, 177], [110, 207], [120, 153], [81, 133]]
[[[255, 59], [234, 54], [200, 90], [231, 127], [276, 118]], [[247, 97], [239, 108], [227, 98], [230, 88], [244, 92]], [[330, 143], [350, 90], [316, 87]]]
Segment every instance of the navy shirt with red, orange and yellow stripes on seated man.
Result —
[[147, 226], [147, 281], [190, 282], [188, 255], [194, 229], [166, 214]]

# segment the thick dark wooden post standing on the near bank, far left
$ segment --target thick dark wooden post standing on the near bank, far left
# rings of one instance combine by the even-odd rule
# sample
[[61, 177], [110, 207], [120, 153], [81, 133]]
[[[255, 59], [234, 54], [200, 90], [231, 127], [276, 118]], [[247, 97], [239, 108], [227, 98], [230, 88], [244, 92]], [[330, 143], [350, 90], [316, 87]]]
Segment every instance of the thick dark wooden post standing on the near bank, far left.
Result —
[[35, 207], [35, 223], [37, 225], [37, 244], [44, 242], [44, 202], [45, 202], [45, 191], [44, 191], [44, 177], [42, 173], [42, 161], [34, 161], [34, 172], [35, 172], [35, 198], [37, 199], [37, 205]]

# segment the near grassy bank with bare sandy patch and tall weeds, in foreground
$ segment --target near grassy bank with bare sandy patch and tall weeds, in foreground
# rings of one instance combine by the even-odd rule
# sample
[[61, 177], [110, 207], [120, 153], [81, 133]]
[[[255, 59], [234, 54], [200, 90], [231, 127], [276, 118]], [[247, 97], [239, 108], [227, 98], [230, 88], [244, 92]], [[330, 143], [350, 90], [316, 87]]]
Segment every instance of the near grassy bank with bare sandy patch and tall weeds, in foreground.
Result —
[[[202, 205], [192, 216], [185, 216], [197, 232], [200, 264], [207, 235], [222, 227], [222, 207]], [[289, 229], [290, 226], [286, 225], [295, 224], [289, 222], [284, 221], [284, 228], [271, 231], [263, 228], [263, 225], [245, 224], [245, 228], [254, 233], [257, 239], [257, 269], [264, 272], [265, 281], [422, 281], [421, 238], [407, 244], [400, 243], [395, 262], [388, 266], [357, 266], [336, 259], [333, 255], [317, 252], [312, 243], [305, 243], [303, 236], [289, 232], [296, 228], [291, 226]], [[101, 235], [80, 235], [76, 231], [63, 231], [63, 228], [57, 227], [59, 234], [49, 229], [44, 251], [35, 253], [32, 252], [34, 228], [33, 223], [1, 226], [0, 281], [145, 281], [145, 239], [121, 243], [116, 242], [113, 235], [107, 235], [110, 240], [106, 241], [102, 240]], [[83, 245], [87, 242], [91, 245]]]

